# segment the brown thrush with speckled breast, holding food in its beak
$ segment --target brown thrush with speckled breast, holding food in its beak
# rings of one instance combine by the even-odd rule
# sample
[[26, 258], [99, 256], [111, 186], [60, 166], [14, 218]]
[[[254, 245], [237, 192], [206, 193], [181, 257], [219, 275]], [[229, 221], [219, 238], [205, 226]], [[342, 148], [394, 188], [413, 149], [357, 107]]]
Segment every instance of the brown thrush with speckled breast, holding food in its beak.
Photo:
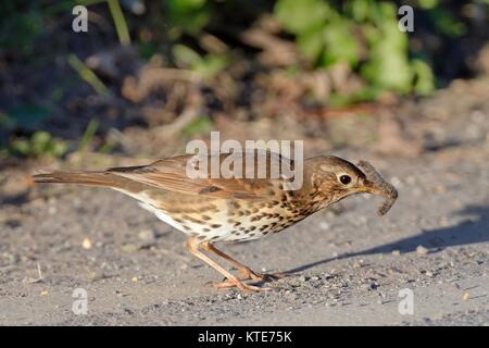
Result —
[[[216, 243], [239, 243], [279, 233], [311, 214], [356, 194], [384, 198], [378, 209], [385, 214], [398, 198], [397, 189], [386, 182], [372, 164], [356, 165], [336, 156], [316, 156], [302, 161], [290, 160], [272, 151], [253, 151], [266, 164], [266, 175], [211, 175], [210, 165], [230, 156], [247, 158], [248, 152], [185, 154], [158, 160], [148, 165], [110, 167], [103, 171], [45, 172], [33, 175], [36, 183], [79, 184], [112, 188], [139, 201], [156, 217], [187, 235], [186, 247], [198, 259], [222, 275], [216, 288], [238, 288], [255, 293], [269, 290], [259, 283], [281, 278], [285, 273], [261, 274], [215, 247]], [[208, 172], [188, 175], [189, 163]], [[256, 163], [233, 162], [230, 171], [254, 173]], [[247, 164], [248, 163], [248, 164]], [[291, 189], [291, 177], [272, 175], [287, 164], [302, 170], [302, 185]], [[205, 252], [204, 252], [205, 251]], [[210, 253], [227, 261], [234, 274]], [[251, 282], [246, 282], [251, 281]]]

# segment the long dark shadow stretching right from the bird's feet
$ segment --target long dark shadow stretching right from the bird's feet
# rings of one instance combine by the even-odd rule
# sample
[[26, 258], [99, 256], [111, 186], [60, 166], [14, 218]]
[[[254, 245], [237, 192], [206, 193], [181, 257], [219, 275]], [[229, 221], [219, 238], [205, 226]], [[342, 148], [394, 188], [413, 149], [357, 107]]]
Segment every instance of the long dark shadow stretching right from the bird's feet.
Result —
[[467, 206], [456, 213], [467, 215], [467, 219], [453, 226], [423, 231], [415, 236], [399, 239], [378, 247], [343, 253], [335, 258], [326, 258], [303, 264], [287, 271], [287, 273], [302, 272], [338, 259], [376, 253], [390, 253], [393, 250], [410, 252], [416, 250], [417, 246], [428, 248], [430, 252], [437, 252], [447, 247], [489, 241], [489, 206]]

